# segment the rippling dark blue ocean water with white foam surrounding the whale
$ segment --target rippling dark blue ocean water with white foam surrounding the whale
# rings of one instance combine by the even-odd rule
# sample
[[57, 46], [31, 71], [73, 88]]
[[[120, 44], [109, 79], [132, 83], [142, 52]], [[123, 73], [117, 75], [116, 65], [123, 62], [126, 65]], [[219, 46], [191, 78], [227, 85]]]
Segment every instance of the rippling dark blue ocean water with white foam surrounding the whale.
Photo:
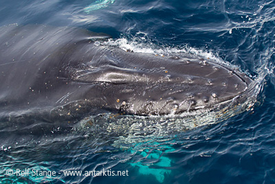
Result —
[[[0, 16], [1, 26], [104, 32], [113, 39], [102, 44], [135, 52], [198, 54], [261, 84], [249, 110], [192, 116], [187, 129], [184, 116], [99, 114], [69, 127], [32, 120], [18, 130], [0, 122], [0, 183], [275, 183], [274, 1], [1, 0]], [[83, 174], [103, 170], [127, 176]]]

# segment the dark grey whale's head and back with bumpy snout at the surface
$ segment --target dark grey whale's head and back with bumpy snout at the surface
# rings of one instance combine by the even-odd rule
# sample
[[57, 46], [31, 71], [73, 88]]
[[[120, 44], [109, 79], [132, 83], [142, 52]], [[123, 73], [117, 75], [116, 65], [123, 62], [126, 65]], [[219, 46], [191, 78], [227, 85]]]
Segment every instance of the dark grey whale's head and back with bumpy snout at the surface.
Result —
[[[0, 28], [0, 116], [163, 115], [236, 101], [252, 80], [198, 57], [160, 57], [99, 45], [80, 28]], [[27, 115], [26, 115], [27, 116]]]

